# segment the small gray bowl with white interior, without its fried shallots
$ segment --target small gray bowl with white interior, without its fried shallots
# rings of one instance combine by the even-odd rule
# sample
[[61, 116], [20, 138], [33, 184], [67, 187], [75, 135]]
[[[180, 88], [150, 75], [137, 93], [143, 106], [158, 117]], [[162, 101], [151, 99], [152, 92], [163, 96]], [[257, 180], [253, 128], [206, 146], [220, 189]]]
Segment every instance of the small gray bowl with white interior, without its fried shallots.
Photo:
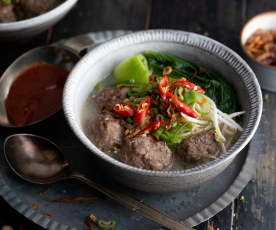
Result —
[[276, 67], [264, 65], [250, 57], [244, 50], [243, 45], [248, 38], [257, 30], [276, 30], [276, 11], [269, 11], [251, 18], [243, 27], [240, 36], [246, 61], [255, 72], [263, 89], [276, 92]]

